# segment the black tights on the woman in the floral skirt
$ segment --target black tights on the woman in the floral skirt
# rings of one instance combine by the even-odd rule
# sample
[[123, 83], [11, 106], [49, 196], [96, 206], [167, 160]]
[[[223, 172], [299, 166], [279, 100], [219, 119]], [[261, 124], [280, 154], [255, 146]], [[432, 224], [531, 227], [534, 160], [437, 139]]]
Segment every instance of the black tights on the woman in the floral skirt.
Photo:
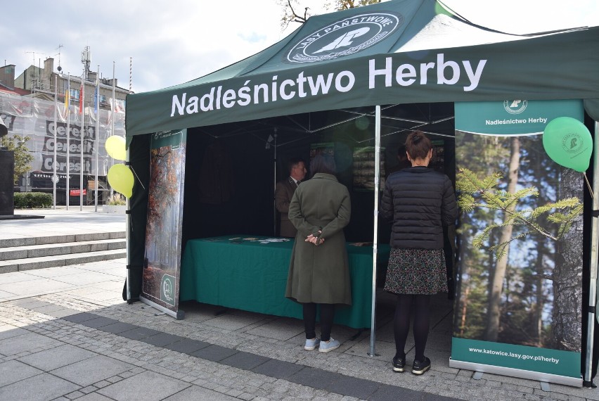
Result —
[[404, 348], [410, 330], [410, 312], [412, 303], [414, 305], [414, 345], [416, 355], [414, 359], [422, 361], [429, 330], [429, 304], [430, 295], [397, 294], [397, 307], [393, 320], [393, 332], [395, 335], [395, 357], [406, 357]]

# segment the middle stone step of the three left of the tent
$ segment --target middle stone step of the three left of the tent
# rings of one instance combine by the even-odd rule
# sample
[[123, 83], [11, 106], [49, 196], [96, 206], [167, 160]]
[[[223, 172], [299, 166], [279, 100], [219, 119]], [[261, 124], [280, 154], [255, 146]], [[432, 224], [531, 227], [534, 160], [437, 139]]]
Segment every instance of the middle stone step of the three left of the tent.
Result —
[[125, 238], [47, 243], [44, 245], [12, 246], [0, 248], [0, 261], [27, 259], [28, 257], [70, 255], [73, 253], [98, 252], [101, 250], [124, 248], [127, 248], [127, 242]]

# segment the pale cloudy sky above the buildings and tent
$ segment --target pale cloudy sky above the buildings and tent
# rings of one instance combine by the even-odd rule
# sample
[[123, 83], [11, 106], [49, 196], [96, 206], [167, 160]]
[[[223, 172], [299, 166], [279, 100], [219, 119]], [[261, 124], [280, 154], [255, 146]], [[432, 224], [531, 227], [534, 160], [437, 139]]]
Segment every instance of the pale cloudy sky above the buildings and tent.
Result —
[[[300, 0], [300, 9], [321, 13], [323, 2]], [[509, 33], [599, 25], [597, 0], [502, 0], [494, 10], [491, 1], [444, 3], [473, 23]], [[15, 76], [32, 64], [43, 67], [48, 57], [55, 69], [60, 64], [80, 76], [89, 46], [92, 71], [99, 65], [101, 76], [112, 78], [114, 63], [119, 87], [129, 89], [131, 81], [137, 93], [201, 77], [292, 32], [281, 32], [276, 0], [19, 0], [6, 10], [1, 54]]]

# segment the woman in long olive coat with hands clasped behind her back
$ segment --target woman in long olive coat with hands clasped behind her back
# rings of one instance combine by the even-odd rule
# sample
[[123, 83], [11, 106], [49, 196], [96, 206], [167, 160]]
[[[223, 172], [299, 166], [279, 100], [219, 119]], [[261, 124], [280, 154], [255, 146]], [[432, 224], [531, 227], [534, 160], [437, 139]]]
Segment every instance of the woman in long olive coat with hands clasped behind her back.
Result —
[[[289, 205], [297, 229], [285, 296], [301, 303], [306, 330], [305, 350], [329, 352], [339, 348], [330, 338], [335, 304], [352, 305], [349, 265], [343, 228], [352, 204], [347, 187], [335, 177], [335, 160], [316, 155], [314, 174], [299, 184]], [[316, 338], [316, 305], [321, 305], [321, 339]]]

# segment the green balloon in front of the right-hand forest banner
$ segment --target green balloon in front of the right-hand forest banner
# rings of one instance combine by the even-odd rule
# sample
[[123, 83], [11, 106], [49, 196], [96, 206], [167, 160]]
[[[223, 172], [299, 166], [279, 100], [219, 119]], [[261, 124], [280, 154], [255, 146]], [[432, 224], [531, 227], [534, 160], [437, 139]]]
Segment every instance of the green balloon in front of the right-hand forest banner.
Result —
[[558, 165], [585, 172], [591, 163], [593, 138], [576, 118], [558, 117], [545, 127], [543, 148]]

